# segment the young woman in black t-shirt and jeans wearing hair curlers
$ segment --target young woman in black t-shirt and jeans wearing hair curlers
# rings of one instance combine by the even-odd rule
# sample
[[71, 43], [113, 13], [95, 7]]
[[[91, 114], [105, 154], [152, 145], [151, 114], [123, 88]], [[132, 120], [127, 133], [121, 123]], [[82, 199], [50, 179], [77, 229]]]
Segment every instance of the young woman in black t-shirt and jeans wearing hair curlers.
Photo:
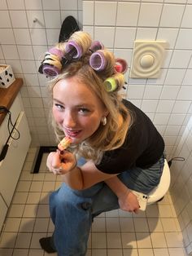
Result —
[[119, 208], [137, 213], [132, 190], [147, 194], [159, 183], [164, 140], [145, 113], [121, 99], [125, 71], [124, 60], [82, 31], [41, 64], [41, 73], [55, 76], [50, 91], [58, 142], [71, 142], [47, 158], [49, 170], [63, 179], [50, 195], [55, 232], [40, 240], [47, 253], [85, 255], [95, 216]]

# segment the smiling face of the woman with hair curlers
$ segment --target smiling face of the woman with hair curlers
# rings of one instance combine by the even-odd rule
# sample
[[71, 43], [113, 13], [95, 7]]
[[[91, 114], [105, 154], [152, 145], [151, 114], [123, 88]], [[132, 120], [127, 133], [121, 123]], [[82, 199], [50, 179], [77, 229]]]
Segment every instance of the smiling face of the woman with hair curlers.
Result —
[[107, 116], [107, 109], [89, 86], [72, 77], [55, 84], [53, 115], [72, 143], [80, 143], [98, 129], [102, 117]]

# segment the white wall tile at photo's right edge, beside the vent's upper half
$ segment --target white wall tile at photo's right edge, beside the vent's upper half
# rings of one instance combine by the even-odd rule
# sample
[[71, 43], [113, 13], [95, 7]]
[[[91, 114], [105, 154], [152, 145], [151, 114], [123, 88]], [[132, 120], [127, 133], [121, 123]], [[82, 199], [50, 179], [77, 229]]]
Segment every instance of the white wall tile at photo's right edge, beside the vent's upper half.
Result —
[[[192, 51], [175, 50], [172, 53], [170, 68], [187, 68], [190, 62]], [[192, 82], [191, 82], [192, 83]]]

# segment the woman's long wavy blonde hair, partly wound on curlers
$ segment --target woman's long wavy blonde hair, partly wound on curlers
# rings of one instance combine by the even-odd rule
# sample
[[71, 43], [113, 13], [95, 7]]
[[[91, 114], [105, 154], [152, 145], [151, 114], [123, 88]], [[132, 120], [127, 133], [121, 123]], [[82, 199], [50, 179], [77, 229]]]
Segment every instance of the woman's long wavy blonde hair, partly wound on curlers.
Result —
[[[69, 40], [74, 40], [74, 38], [76, 38], [77, 41], [81, 41], [81, 45], [89, 50], [92, 40], [88, 33], [78, 31], [72, 34]], [[56, 47], [64, 52], [65, 46], [66, 43], [59, 43]], [[52, 96], [53, 88], [59, 80], [76, 77], [77, 81], [89, 86], [107, 108], [108, 115], [106, 126], [103, 126], [101, 123], [98, 130], [96, 130], [93, 135], [71, 148], [78, 156], [85, 157], [85, 159], [92, 159], [95, 163], [98, 163], [103, 157], [103, 152], [120, 148], [120, 146], [123, 145], [127, 131], [132, 124], [132, 115], [128, 109], [124, 107], [119, 94], [120, 89], [124, 86], [124, 77], [120, 73], [114, 73], [115, 56], [111, 51], [103, 49], [102, 51], [107, 60], [107, 66], [103, 71], [95, 71], [89, 65], [91, 52], [85, 51], [85, 48], [83, 49], [84, 53], [81, 59], [72, 61], [64, 67], [62, 72], [50, 81], [49, 88], [50, 95]], [[108, 77], [113, 76], [116, 76], [118, 87], [116, 90], [108, 92], [103, 86], [103, 82]], [[121, 124], [119, 117], [122, 119]], [[65, 135], [53, 117], [51, 117], [51, 120], [57, 141], [59, 142]]]

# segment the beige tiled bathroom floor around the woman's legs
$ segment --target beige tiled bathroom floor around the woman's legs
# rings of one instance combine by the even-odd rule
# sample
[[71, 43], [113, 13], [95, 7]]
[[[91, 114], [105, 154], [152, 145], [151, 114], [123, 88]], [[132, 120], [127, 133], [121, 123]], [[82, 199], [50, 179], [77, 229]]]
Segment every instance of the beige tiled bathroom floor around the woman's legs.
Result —
[[[47, 256], [39, 238], [50, 236], [48, 197], [59, 176], [46, 170], [31, 174], [36, 148], [30, 148], [0, 236], [0, 256]], [[49, 254], [57, 255], [57, 254]], [[141, 214], [113, 210], [95, 218], [86, 256], [185, 256], [181, 229], [169, 194]]]

